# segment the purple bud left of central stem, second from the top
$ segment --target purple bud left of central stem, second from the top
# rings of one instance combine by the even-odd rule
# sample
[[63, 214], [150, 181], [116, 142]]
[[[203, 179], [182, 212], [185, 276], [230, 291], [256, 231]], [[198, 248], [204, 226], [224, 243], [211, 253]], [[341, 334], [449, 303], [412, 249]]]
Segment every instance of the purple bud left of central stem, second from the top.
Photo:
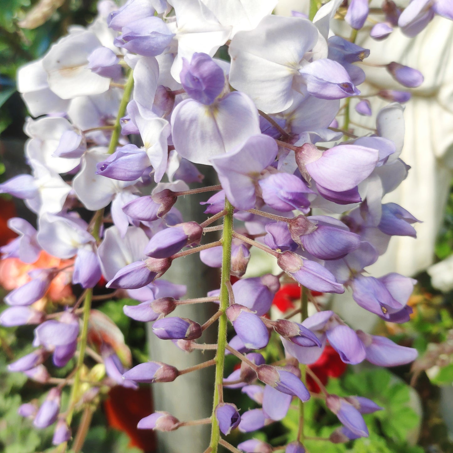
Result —
[[157, 232], [145, 248], [145, 255], [168, 258], [189, 244], [199, 244], [203, 228], [197, 222], [185, 222]]

